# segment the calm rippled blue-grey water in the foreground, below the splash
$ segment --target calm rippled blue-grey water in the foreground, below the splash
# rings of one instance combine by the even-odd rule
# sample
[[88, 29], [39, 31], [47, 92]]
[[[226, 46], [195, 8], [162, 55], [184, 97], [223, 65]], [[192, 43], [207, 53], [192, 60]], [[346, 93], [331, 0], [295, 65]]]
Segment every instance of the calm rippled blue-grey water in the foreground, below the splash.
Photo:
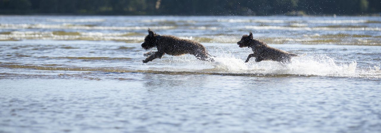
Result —
[[371, 80], [130, 75], [136, 80], [0, 80], [7, 84], [0, 94], [3, 101], [0, 106], [5, 107], [0, 118], [4, 127], [1, 130], [162, 133], [281, 130], [291, 133], [301, 127], [313, 133], [381, 130], [377, 117], [380, 84]]

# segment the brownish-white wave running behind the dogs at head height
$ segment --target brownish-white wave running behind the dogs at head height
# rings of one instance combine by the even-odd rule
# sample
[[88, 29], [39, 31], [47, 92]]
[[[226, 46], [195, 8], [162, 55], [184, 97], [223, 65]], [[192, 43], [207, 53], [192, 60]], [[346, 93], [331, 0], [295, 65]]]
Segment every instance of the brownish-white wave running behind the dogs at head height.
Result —
[[[93, 40], [93, 41], [120, 41], [127, 43], [140, 43], [144, 41], [144, 35], [136, 32], [120, 32], [120, 33], [102, 33], [102, 32], [34, 32], [34, 31], [13, 31], [1, 32], [0, 40]], [[236, 43], [241, 35], [234, 34], [215, 34], [205, 37], [180, 37], [197, 42], [207, 43]], [[284, 43], [300, 43], [300, 44], [339, 44], [339, 45], [381, 45], [378, 41], [380, 36], [372, 36], [365, 34], [312, 34], [303, 35], [302, 38], [287, 37], [259, 37], [257, 39], [266, 43], [284, 44]], [[70, 48], [70, 47], [67, 47]]]

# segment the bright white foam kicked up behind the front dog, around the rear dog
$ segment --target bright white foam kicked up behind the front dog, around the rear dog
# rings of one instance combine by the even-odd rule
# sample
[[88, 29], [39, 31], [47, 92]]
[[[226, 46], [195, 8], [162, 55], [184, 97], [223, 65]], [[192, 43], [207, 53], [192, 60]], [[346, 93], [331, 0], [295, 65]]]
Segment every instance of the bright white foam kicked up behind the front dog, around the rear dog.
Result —
[[[302, 56], [292, 58], [290, 64], [282, 64], [275, 61], [255, 62], [251, 59], [245, 63], [242, 59], [234, 57], [215, 58], [215, 69], [207, 72], [232, 73], [232, 74], [291, 74], [291, 75], [317, 75], [335, 77], [367, 77], [381, 78], [379, 67], [375, 66], [369, 70], [357, 68], [357, 62], [347, 64], [335, 62], [328, 56]], [[201, 70], [205, 72], [205, 70]]]

